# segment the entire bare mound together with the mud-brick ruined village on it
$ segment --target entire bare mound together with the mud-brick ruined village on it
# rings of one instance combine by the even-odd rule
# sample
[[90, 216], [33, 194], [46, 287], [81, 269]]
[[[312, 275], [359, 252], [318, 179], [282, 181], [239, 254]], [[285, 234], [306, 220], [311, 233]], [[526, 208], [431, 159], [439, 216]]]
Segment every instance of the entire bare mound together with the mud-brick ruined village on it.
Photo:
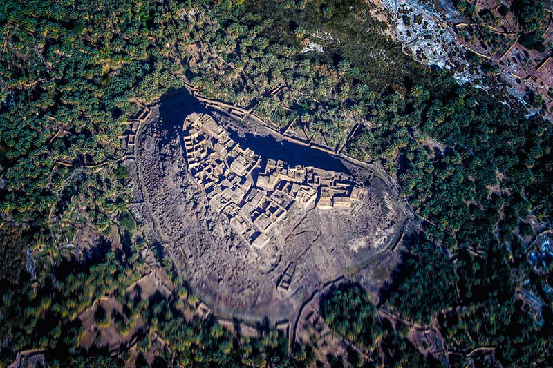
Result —
[[253, 335], [268, 320], [291, 337], [306, 303], [344, 274], [376, 295], [409, 217], [397, 193], [358, 166], [263, 157], [239, 137], [270, 129], [216, 111], [183, 115], [185, 101], [167, 101], [144, 126], [131, 209], [198, 296], [198, 315], [229, 329], [240, 320]]

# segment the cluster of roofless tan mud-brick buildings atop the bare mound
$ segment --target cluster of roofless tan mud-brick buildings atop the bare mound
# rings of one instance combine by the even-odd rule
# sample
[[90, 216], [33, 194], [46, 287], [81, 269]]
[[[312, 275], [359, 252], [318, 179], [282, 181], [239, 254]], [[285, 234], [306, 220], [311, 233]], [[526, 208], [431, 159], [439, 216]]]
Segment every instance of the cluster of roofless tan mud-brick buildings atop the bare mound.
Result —
[[182, 126], [187, 164], [203, 187], [209, 205], [225, 215], [247, 244], [263, 248], [268, 232], [288, 215], [293, 204], [307, 209], [350, 209], [360, 203], [364, 189], [343, 173], [261, 157], [242, 148], [207, 115], [192, 113]]

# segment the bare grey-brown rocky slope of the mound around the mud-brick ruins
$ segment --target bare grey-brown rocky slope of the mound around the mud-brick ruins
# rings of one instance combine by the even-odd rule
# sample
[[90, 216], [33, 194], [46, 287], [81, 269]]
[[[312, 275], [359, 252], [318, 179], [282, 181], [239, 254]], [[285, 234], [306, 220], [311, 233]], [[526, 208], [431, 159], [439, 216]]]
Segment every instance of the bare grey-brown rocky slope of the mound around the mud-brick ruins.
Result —
[[[366, 286], [377, 290], [389, 267], [380, 264], [377, 273], [384, 277], [375, 280], [367, 268], [375, 256], [380, 262], [388, 259], [382, 254], [395, 245], [407, 218], [397, 193], [370, 171], [343, 163], [368, 188], [359, 209], [292, 206], [274, 241], [261, 251], [252, 249], [209, 208], [203, 189], [187, 171], [182, 122], [193, 110], [205, 112], [193, 100], [181, 93], [162, 101], [160, 118], [140, 131], [131, 169], [137, 191], [131, 209], [215, 316], [252, 325], [265, 319], [293, 325], [303, 304], [330, 280], [359, 273]], [[223, 125], [238, 127], [238, 135], [268, 135], [263, 127], [252, 131], [243, 122], [212, 115]], [[277, 289], [286, 271], [293, 273], [288, 293]]]

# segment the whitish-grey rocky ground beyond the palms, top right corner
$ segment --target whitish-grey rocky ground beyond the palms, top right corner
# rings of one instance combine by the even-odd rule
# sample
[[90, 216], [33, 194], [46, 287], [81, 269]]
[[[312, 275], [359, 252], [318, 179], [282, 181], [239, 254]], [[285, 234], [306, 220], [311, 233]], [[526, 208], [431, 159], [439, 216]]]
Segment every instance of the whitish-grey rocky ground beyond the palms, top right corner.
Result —
[[[382, 0], [373, 1], [377, 9], [389, 15], [385, 21], [387, 31], [402, 43], [403, 51], [415, 60], [429, 66], [440, 66], [453, 72], [460, 83], [469, 83], [489, 90], [506, 84], [505, 91], [521, 101], [532, 115], [542, 106], [532, 106], [529, 99], [534, 93], [543, 98], [542, 113], [553, 119], [553, 61], [550, 50], [530, 50], [519, 42], [521, 29], [513, 12], [499, 12], [508, 3], [499, 1], [491, 6], [487, 1], [471, 1], [478, 9], [468, 22], [449, 0]], [[480, 14], [489, 14], [489, 24]], [[543, 35], [545, 43], [553, 37], [550, 24]], [[483, 35], [483, 36], [482, 36]], [[491, 79], [495, 86], [482, 81], [485, 63], [469, 60], [469, 55], [480, 58], [496, 68], [500, 80]], [[489, 72], [488, 74], [489, 75]], [[503, 79], [503, 80], [501, 80]]]

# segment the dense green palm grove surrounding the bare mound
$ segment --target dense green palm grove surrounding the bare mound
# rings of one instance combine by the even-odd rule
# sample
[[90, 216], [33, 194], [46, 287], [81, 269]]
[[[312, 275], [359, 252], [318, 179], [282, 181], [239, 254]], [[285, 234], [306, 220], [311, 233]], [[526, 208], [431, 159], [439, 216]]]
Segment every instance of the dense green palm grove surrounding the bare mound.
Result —
[[[0, 344], [3, 362], [34, 347], [50, 349], [53, 361], [62, 351], [76, 354], [75, 316], [117, 295], [137, 310], [119, 318], [120, 327], [133, 316], [154, 319], [151, 328], [176, 352], [166, 357], [173, 364], [256, 365], [261, 356], [288, 364], [270, 338], [242, 346], [218, 327], [171, 318], [180, 313], [178, 298], [160, 306], [126, 300], [146, 246], [136, 236], [132, 266], [108, 255], [71, 275], [55, 272], [65, 256], [57, 245], [73, 238], [76, 224], [104, 235], [114, 222], [133, 227], [117, 160], [122, 122], [138, 112], [135, 100], [151, 102], [182, 86], [180, 74], [204, 95], [254, 108], [279, 126], [295, 120], [328, 146], [344, 144], [362, 123], [346, 152], [382, 165], [421, 222], [380, 304], [415, 322], [436, 321], [459, 351], [492, 346], [504, 365], [551, 362], [553, 297], [544, 290], [552, 273], [538, 275], [525, 246], [534, 235], [530, 219], [547, 223], [552, 215], [552, 130], [539, 115], [502, 103], [506, 86], [483, 93], [415, 64], [379, 32], [384, 26], [360, 0], [33, 0], [0, 7], [0, 209], [6, 222], [32, 226], [30, 244], [48, 258], [37, 260], [38, 288], [2, 289], [0, 337], [11, 336]], [[301, 54], [309, 41], [325, 52]], [[80, 290], [83, 284], [91, 291]], [[544, 301], [538, 318], [517, 297], [522, 287]], [[359, 287], [332, 298], [345, 300], [332, 313], [359, 316], [347, 326], [376, 323]], [[330, 306], [321, 308], [328, 315]], [[355, 340], [353, 329], [328, 323]], [[377, 336], [370, 338], [362, 344], [370, 347]], [[404, 354], [412, 349], [393, 334], [383, 339]], [[92, 364], [79, 359], [65, 364]], [[105, 359], [97, 364], [120, 364]]]

